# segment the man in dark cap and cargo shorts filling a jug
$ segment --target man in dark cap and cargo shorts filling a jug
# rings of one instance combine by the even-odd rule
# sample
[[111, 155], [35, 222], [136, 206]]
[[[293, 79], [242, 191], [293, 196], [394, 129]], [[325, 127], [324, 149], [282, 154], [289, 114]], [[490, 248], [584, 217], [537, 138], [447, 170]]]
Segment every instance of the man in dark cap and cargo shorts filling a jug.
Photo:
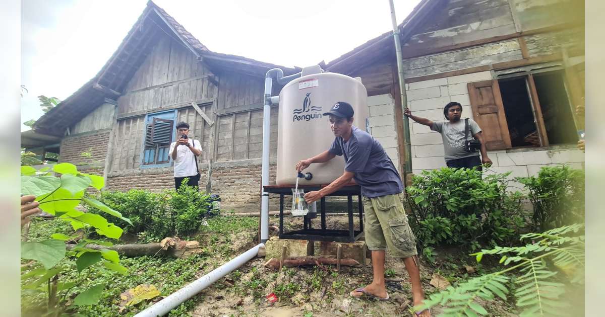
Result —
[[[299, 161], [296, 170], [302, 171], [313, 163], [327, 162], [336, 155], [344, 156], [345, 170], [342, 176], [321, 190], [305, 194], [304, 199], [308, 203], [335, 192], [353, 179], [361, 187], [365, 243], [372, 254], [373, 281], [353, 290], [350, 295], [388, 299], [384, 279], [385, 251], [388, 246], [394, 257], [404, 259], [411, 278], [414, 305], [422, 304], [424, 291], [420, 284], [416, 238], [408, 225], [403, 205], [404, 188], [393, 162], [376, 139], [352, 125], [353, 107], [350, 104], [339, 101], [323, 115], [330, 116], [332, 132], [336, 136], [332, 147]], [[430, 316], [430, 312], [424, 310], [417, 315]]]

